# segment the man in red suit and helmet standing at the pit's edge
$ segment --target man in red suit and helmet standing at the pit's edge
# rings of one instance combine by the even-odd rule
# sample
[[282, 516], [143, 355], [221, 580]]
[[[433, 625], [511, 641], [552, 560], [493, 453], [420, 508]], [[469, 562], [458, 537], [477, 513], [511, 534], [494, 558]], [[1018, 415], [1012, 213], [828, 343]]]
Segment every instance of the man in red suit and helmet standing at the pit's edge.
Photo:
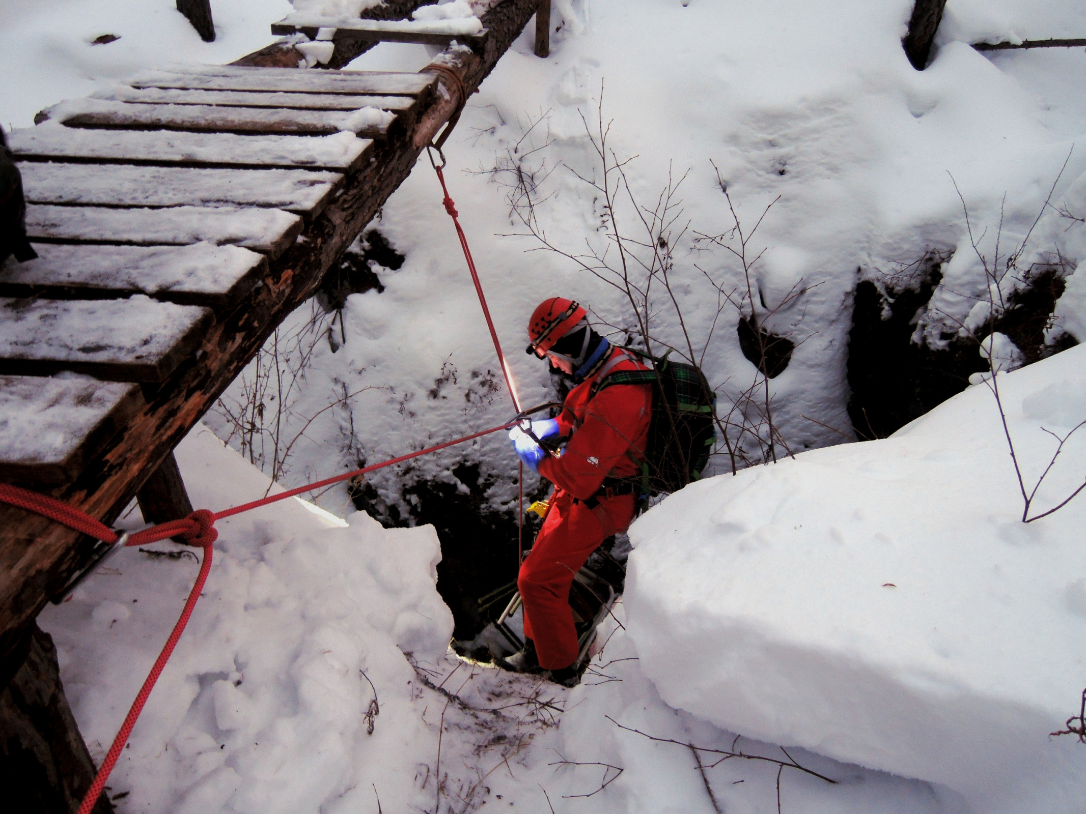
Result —
[[[541, 303], [528, 336], [528, 352], [550, 360], [576, 386], [557, 418], [532, 421], [530, 434], [520, 428], [509, 433], [520, 459], [555, 485], [543, 527], [520, 567], [527, 646], [509, 661], [530, 670], [538, 659], [553, 681], [571, 685], [579, 652], [569, 588], [589, 555], [633, 519], [653, 389], [597, 389], [611, 372], [646, 368], [593, 331], [584, 308], [571, 300]], [[568, 442], [558, 455], [535, 438]]]

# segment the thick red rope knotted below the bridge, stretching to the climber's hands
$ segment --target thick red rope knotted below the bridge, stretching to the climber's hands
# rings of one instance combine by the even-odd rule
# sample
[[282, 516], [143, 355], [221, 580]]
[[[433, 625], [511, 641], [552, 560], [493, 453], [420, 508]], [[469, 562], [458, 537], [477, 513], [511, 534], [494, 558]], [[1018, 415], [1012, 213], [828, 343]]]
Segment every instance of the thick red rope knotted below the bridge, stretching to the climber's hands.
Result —
[[[509, 422], [501, 424], [500, 427], [492, 427], [489, 430], [471, 433], [470, 435], [465, 435], [464, 437], [456, 438], [455, 441], [446, 441], [444, 444], [438, 444], [437, 446], [427, 447], [426, 449], [419, 449], [417, 453], [408, 453], [407, 455], [401, 455], [396, 458], [390, 458], [389, 460], [381, 461], [380, 463], [374, 463], [369, 467], [363, 467], [362, 469], [355, 469], [351, 472], [344, 472], [343, 474], [338, 474], [333, 478], [326, 478], [323, 481], [310, 483], [305, 486], [299, 486], [298, 488], [289, 489], [278, 495], [268, 495], [260, 500], [253, 500], [248, 504], [242, 504], [241, 506], [235, 506], [230, 509], [224, 509], [223, 511], [211, 512], [207, 509], [199, 509], [181, 520], [171, 520], [167, 523], [160, 523], [159, 525], [142, 529], [130, 534], [125, 543], [126, 546], [147, 545], [148, 543], [157, 543], [159, 540], [166, 539], [167, 537], [180, 536], [190, 544], [202, 547], [204, 549], [204, 558], [203, 562], [200, 564], [200, 573], [197, 575], [197, 581], [192, 585], [192, 590], [189, 592], [189, 598], [185, 602], [181, 615], [177, 620], [177, 624], [174, 625], [174, 629], [169, 634], [169, 638], [166, 639], [166, 644], [162, 648], [162, 652], [160, 652], [159, 658], [155, 659], [154, 666], [151, 667], [151, 672], [144, 679], [143, 686], [140, 687], [140, 691], [136, 696], [136, 700], [132, 701], [131, 708], [128, 710], [128, 714], [125, 716], [125, 721], [121, 725], [121, 730], [113, 740], [113, 746], [110, 747], [110, 751], [106, 753], [105, 760], [102, 761], [102, 765], [98, 770], [94, 781], [90, 785], [90, 788], [87, 790], [87, 794], [83, 799], [83, 804], [79, 806], [78, 814], [90, 814], [91, 810], [94, 807], [94, 803], [98, 801], [98, 797], [102, 793], [102, 788], [105, 786], [105, 780], [109, 779], [110, 773], [113, 771], [117, 759], [121, 756], [121, 750], [124, 749], [125, 743], [128, 742], [128, 736], [131, 734], [137, 718], [139, 718], [140, 713], [143, 711], [143, 704], [147, 703], [148, 696], [151, 695], [151, 690], [154, 688], [155, 682], [159, 681], [159, 676], [162, 674], [163, 669], [166, 666], [166, 662], [169, 661], [169, 657], [174, 652], [174, 647], [177, 645], [178, 639], [180, 639], [181, 634], [185, 632], [185, 626], [189, 623], [189, 618], [192, 615], [192, 609], [195, 608], [197, 600], [203, 592], [204, 583], [207, 582], [207, 573], [211, 571], [212, 544], [218, 537], [218, 532], [215, 530], [214, 525], [216, 520], [240, 514], [243, 511], [250, 511], [251, 509], [255, 509], [260, 506], [266, 506], [267, 504], [274, 504], [278, 500], [285, 500], [288, 497], [294, 497], [303, 492], [310, 492], [312, 489], [320, 488], [321, 486], [345, 481], [349, 478], [356, 478], [358, 475], [366, 474], [367, 472], [383, 469], [384, 467], [391, 467], [394, 463], [402, 463], [405, 460], [435, 453], [439, 449], [444, 449], [445, 447], [454, 446], [455, 444], [463, 444], [466, 441], [472, 441], [475, 438], [482, 437], [483, 435], [498, 432], [500, 430], [508, 430], [516, 422]], [[0, 484], [0, 503], [5, 503], [11, 506], [17, 506], [26, 509], [27, 511], [33, 511], [36, 514], [40, 514], [61, 523], [62, 525], [66, 525], [68, 529], [74, 529], [77, 532], [89, 534], [91, 537], [105, 540], [106, 543], [116, 543], [117, 539], [119, 539], [119, 535], [108, 525], [99, 522], [81, 509], [70, 506], [68, 504], [58, 500], [54, 497], [50, 497], [49, 495], [39, 495], [35, 492], [20, 488], [18, 486]]]

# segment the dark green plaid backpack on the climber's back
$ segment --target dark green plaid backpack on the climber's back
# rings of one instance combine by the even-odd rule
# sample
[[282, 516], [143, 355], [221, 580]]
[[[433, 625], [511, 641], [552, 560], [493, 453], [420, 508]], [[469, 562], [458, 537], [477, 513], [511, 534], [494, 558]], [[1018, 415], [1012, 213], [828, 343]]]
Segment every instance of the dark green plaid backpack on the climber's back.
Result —
[[592, 395], [613, 384], [654, 384], [648, 442], [642, 462], [642, 498], [678, 492], [702, 476], [716, 442], [717, 394], [694, 365], [623, 347], [653, 370], [618, 370], [592, 386]]

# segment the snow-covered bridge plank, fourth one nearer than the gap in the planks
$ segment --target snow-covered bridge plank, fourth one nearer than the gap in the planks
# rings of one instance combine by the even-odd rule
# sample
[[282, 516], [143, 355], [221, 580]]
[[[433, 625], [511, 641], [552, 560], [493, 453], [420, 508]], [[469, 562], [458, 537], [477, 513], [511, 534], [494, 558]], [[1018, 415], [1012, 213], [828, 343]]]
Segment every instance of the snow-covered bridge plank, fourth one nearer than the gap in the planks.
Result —
[[8, 147], [17, 158], [75, 158], [125, 164], [181, 164], [239, 168], [304, 167], [351, 171], [372, 145], [354, 133], [238, 136], [235, 133], [88, 130], [46, 122], [13, 130]]

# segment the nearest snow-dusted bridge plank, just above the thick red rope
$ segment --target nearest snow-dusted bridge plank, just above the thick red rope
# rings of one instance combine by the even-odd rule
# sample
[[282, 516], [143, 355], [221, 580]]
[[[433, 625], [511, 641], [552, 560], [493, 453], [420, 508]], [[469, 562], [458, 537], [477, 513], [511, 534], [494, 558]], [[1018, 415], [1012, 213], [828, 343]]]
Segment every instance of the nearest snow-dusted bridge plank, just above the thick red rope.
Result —
[[0, 376], [0, 481], [71, 481], [142, 404], [129, 382]]

